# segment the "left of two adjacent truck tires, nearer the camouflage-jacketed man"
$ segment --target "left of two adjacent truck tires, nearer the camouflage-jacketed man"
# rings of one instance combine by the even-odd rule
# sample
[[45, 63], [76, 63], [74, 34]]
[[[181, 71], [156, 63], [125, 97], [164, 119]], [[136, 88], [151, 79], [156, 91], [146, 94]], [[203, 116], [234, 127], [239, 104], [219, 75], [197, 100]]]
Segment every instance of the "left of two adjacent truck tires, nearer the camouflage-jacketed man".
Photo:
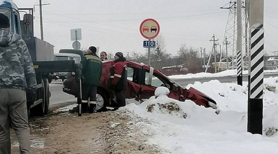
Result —
[[31, 108], [31, 115], [32, 116], [43, 116], [44, 115], [44, 110], [45, 110], [45, 85], [44, 85], [44, 81], [41, 80], [41, 83], [42, 83], [42, 87], [40, 89], [40, 91], [37, 91], [37, 92], [40, 92], [40, 95], [42, 96], [42, 103], [34, 106]]

